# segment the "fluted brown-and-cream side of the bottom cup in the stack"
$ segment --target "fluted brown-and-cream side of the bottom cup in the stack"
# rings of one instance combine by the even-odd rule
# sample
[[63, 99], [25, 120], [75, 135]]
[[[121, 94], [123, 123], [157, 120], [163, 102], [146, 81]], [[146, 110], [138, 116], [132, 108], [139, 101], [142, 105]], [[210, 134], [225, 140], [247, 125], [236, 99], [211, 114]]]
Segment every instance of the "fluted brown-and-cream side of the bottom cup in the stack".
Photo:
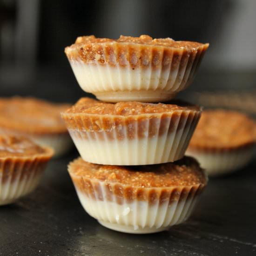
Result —
[[[70, 175], [73, 179], [72, 173]], [[134, 192], [134, 199], [131, 200], [123, 196], [129, 193], [128, 186], [98, 181], [89, 183], [91, 193], [76, 187], [84, 209], [102, 225], [127, 233], [154, 233], [184, 222], [192, 213], [204, 188], [202, 185], [142, 188], [144, 200], [141, 201], [141, 188]], [[110, 192], [117, 188], [120, 190], [118, 193]]]

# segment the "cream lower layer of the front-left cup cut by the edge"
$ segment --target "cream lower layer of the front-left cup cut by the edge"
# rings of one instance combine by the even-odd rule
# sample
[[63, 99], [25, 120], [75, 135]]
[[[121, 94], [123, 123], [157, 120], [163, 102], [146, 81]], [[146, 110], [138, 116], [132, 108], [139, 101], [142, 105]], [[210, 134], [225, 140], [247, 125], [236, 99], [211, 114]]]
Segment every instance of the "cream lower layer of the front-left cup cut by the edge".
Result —
[[9, 204], [15, 202], [20, 197], [32, 192], [40, 181], [42, 173], [30, 174], [29, 177], [24, 177], [20, 180], [17, 177], [14, 181], [11, 181], [11, 177], [4, 183], [0, 181], [0, 205]]

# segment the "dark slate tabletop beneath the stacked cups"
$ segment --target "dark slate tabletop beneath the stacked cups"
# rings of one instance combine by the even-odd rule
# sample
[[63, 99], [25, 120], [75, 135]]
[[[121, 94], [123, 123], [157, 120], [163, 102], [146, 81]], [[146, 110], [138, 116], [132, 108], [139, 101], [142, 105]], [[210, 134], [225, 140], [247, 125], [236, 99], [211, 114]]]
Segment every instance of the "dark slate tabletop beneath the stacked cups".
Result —
[[0, 256], [256, 255], [256, 161], [210, 179], [186, 223], [129, 235], [102, 227], [81, 207], [67, 173], [76, 156], [52, 160], [34, 193], [0, 208]]

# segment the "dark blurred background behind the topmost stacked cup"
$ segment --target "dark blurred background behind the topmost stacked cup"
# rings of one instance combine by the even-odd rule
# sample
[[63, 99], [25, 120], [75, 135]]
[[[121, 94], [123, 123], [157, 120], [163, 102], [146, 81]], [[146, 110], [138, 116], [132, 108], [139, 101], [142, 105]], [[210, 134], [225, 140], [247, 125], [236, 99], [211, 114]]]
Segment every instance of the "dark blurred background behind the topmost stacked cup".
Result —
[[256, 113], [255, 0], [0, 0], [0, 96], [75, 102], [64, 54], [77, 36], [120, 34], [209, 42], [194, 83], [179, 94]]

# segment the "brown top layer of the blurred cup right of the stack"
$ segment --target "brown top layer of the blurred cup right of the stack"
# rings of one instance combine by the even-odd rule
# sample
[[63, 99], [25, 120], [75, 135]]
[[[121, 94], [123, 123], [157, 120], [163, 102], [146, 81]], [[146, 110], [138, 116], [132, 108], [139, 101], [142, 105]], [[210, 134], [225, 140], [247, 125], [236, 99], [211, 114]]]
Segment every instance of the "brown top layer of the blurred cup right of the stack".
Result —
[[256, 122], [235, 111], [203, 111], [189, 144], [195, 149], [232, 149], [256, 142]]

